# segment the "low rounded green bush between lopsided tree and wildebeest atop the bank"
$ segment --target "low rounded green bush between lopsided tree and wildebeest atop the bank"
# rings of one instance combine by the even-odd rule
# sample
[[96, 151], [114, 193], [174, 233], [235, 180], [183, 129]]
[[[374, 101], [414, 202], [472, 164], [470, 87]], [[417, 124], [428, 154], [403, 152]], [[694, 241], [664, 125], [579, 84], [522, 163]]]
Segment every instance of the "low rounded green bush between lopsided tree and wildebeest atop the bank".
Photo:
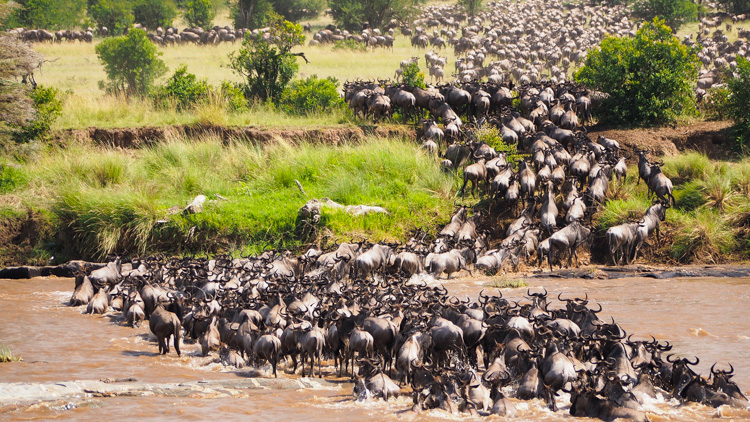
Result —
[[281, 95], [279, 105], [289, 114], [307, 115], [327, 113], [344, 106], [339, 96], [338, 81], [328, 77], [319, 79], [313, 75], [293, 82]]

